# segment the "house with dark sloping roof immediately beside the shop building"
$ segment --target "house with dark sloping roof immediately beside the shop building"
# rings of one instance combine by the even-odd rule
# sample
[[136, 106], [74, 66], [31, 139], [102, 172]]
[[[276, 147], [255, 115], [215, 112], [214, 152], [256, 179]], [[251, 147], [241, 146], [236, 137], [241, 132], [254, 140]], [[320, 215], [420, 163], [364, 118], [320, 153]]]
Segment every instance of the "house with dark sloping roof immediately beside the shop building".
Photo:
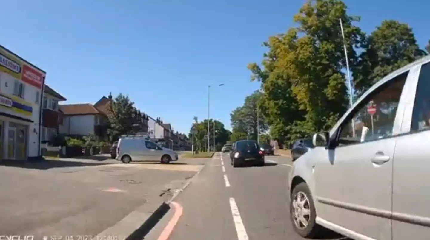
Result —
[[45, 84], [42, 101], [42, 128], [40, 130], [40, 141], [49, 141], [58, 134], [59, 126], [63, 124], [63, 113], [60, 111], [58, 102], [67, 99]]

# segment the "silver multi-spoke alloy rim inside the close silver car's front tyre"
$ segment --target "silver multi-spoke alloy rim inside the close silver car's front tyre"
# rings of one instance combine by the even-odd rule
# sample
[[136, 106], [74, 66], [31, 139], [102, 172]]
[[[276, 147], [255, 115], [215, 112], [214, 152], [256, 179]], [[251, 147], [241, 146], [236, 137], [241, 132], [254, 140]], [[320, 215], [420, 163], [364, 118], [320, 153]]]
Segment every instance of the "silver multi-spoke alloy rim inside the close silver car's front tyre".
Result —
[[300, 230], [307, 228], [311, 213], [307, 195], [304, 192], [297, 192], [293, 198], [292, 207], [295, 226]]

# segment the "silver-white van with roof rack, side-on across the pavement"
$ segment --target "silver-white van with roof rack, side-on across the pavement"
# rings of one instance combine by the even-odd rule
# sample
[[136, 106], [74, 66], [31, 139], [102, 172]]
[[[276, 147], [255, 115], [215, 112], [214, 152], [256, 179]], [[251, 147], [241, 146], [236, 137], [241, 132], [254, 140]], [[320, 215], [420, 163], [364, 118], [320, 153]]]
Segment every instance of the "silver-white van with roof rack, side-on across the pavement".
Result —
[[160, 147], [149, 138], [127, 137], [118, 141], [116, 159], [123, 163], [160, 161], [166, 164], [178, 161], [178, 154], [173, 150]]

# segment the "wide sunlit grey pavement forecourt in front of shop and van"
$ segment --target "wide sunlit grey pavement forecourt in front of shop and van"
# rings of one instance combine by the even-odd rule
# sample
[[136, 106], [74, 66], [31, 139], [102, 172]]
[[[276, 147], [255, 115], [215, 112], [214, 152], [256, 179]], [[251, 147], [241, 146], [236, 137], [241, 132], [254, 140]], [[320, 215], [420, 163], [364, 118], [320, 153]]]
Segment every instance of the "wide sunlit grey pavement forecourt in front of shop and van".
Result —
[[180, 159], [166, 165], [109, 159], [0, 161], [0, 232], [34, 239], [91, 239], [109, 232], [124, 239], [207, 160]]

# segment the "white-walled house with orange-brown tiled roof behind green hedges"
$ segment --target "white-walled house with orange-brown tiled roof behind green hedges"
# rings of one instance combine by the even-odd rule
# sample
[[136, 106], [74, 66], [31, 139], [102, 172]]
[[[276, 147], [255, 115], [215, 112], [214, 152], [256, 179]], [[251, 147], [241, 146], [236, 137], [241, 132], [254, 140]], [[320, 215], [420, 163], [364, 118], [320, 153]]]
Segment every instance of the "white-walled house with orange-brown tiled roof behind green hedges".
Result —
[[105, 138], [109, 102], [109, 99], [103, 96], [94, 105], [91, 103], [60, 105], [60, 110], [64, 114], [60, 133], [75, 136], [95, 135]]

